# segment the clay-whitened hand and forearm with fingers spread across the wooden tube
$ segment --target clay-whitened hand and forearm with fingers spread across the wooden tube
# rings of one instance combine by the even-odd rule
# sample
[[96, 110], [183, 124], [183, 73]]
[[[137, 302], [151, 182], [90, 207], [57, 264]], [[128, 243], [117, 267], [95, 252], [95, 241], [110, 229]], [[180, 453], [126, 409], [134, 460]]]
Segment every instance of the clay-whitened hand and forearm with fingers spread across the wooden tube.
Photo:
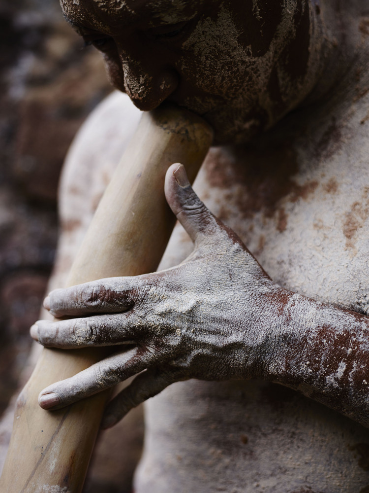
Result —
[[[165, 193], [193, 252], [178, 267], [155, 275], [103, 279], [49, 295], [45, 307], [55, 317], [93, 315], [38, 321], [31, 335], [44, 346], [134, 346], [46, 388], [42, 407], [65, 406], [147, 369], [111, 402], [103, 427], [173, 382], [190, 378], [305, 385], [315, 400], [369, 426], [368, 317], [272, 282], [194, 194], [182, 165], [169, 168]], [[321, 351], [327, 339], [337, 339], [339, 347]], [[295, 353], [312, 363], [299, 371], [291, 359]]]

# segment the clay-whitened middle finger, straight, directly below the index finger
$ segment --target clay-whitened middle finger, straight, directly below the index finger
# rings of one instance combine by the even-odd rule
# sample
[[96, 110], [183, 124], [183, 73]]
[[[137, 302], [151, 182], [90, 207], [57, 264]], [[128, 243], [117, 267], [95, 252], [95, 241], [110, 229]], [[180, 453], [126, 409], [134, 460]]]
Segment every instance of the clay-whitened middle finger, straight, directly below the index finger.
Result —
[[146, 330], [132, 314], [95, 315], [51, 322], [37, 320], [31, 337], [47, 348], [79, 349], [130, 344]]

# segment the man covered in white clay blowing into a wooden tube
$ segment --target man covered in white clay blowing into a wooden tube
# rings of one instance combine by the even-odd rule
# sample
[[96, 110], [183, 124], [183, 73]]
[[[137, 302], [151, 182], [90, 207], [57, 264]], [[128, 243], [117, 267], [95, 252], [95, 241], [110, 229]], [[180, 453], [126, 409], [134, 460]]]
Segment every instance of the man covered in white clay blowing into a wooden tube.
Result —
[[138, 108], [168, 100], [212, 125], [197, 193], [263, 267], [174, 165], [189, 256], [177, 227], [160, 273], [45, 300], [75, 318], [37, 322], [42, 344], [137, 346], [42, 407], [146, 370], [111, 426], [165, 389], [146, 404], [137, 493], [369, 491], [369, 10], [347, 3], [62, 0]]

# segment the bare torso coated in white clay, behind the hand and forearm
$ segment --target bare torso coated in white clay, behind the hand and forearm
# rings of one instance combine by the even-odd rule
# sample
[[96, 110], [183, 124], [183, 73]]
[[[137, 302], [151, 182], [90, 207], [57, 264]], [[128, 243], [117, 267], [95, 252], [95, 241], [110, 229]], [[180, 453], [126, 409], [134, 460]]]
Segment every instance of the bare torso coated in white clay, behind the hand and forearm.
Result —
[[[301, 124], [296, 115], [299, 123], [287, 127], [295, 129], [293, 138], [274, 132], [237, 156], [213, 149], [195, 184], [274, 281], [363, 313], [369, 305], [369, 121], [354, 123], [368, 110], [362, 100], [336, 121], [312, 112]], [[176, 227], [162, 267], [190, 249]], [[365, 493], [369, 430], [275, 384], [181, 382], [146, 404], [135, 491]]]

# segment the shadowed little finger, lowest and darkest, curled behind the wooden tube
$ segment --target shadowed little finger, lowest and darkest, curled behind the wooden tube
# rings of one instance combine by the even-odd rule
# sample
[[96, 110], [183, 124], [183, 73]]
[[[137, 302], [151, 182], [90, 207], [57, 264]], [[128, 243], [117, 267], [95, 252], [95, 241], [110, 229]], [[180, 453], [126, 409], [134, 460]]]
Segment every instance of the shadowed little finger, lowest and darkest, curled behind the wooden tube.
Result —
[[155, 367], [140, 373], [128, 387], [125, 387], [108, 404], [101, 428], [106, 429], [114, 426], [128, 411], [180, 380], [186, 380], [183, 371], [180, 370]]

